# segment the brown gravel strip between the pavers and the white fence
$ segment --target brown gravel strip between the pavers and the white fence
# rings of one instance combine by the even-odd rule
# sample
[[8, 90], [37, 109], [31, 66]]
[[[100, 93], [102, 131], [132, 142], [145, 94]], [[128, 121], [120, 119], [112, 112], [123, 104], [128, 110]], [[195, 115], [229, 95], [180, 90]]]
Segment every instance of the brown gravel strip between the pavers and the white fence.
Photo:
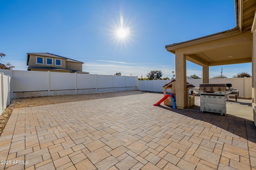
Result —
[[11, 104], [5, 109], [2, 115], [0, 115], [0, 136], [14, 108], [42, 106], [42, 105], [67, 103], [67, 102], [78, 102], [78, 101], [84, 101], [84, 100], [112, 98], [112, 97], [128, 96], [128, 95], [142, 94], [142, 93], [143, 92], [139, 90], [132, 90], [132, 91], [120, 91], [120, 92], [108, 92], [108, 93], [78, 94], [78, 95], [65, 95], [65, 96], [44, 96], [44, 97], [37, 97], [37, 98], [12, 99]]

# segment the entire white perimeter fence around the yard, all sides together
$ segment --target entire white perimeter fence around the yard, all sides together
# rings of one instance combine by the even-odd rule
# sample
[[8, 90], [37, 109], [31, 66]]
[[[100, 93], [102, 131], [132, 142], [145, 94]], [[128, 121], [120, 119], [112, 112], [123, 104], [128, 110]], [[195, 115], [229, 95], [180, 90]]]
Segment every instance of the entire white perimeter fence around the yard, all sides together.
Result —
[[[12, 98], [89, 94], [142, 90], [163, 92], [164, 84], [171, 80], [139, 80], [138, 76], [113, 76], [62, 72], [1, 70], [1, 108], [4, 110]], [[6, 76], [6, 75], [9, 75]], [[7, 84], [9, 82], [9, 85]], [[187, 79], [199, 87], [202, 79]], [[252, 97], [252, 78], [211, 78], [210, 83], [231, 83], [239, 96]], [[8, 95], [9, 94], [9, 95]]]

